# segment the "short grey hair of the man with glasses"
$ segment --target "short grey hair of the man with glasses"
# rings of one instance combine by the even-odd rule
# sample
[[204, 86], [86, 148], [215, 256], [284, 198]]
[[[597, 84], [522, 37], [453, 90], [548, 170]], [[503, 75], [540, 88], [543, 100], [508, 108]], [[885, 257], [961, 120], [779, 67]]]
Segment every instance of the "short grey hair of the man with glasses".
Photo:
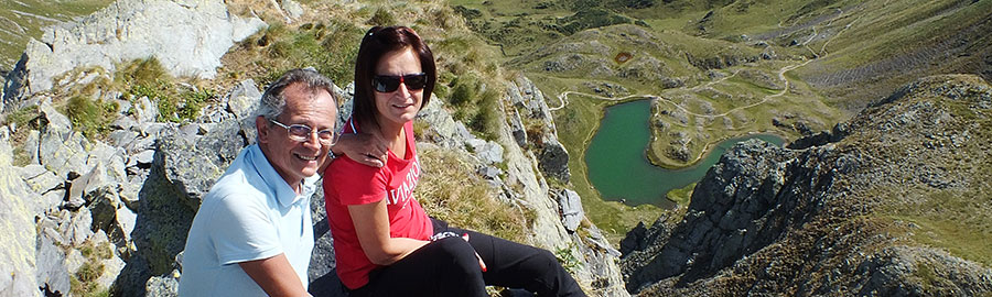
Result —
[[269, 85], [255, 114], [265, 117], [268, 120], [274, 120], [279, 114], [282, 114], [282, 111], [285, 110], [285, 95], [283, 91], [287, 87], [296, 82], [303, 84], [303, 88], [311, 92], [324, 89], [337, 102], [337, 96], [334, 95], [334, 82], [330, 78], [313, 70], [313, 68], [296, 68], [287, 72], [276, 82]]

